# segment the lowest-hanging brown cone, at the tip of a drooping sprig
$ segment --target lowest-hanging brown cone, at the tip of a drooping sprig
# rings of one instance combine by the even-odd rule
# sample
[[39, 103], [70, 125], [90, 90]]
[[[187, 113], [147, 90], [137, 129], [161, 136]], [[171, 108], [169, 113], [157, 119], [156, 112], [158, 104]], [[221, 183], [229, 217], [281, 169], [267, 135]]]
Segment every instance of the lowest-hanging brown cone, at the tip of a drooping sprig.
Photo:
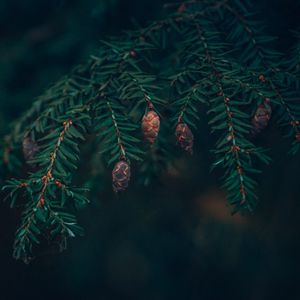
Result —
[[120, 192], [126, 190], [130, 180], [130, 166], [129, 164], [121, 160], [115, 164], [112, 171], [112, 185], [114, 192]]

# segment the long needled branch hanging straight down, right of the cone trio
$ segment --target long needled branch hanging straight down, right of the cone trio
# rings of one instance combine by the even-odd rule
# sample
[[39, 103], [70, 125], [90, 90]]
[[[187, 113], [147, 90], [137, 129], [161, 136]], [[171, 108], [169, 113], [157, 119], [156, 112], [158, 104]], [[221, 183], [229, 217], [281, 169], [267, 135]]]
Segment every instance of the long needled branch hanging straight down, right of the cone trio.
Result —
[[[238, 97], [238, 93], [235, 91], [232, 96], [227, 94], [227, 90], [230, 90], [230, 88], [228, 89], [224, 85], [223, 76], [224, 74], [226, 76], [226, 73], [231, 74], [232, 72], [230, 69], [227, 71], [224, 70], [226, 63], [222, 64], [222, 70], [219, 69], [218, 53], [214, 51], [214, 54], [212, 54], [210, 50], [210, 47], [212, 49], [220, 49], [220, 47], [217, 47], [216, 44], [210, 46], [210, 41], [206, 39], [206, 35], [209, 34], [204, 32], [199, 23], [196, 23], [195, 26], [200, 43], [202, 44], [205, 59], [210, 68], [213, 81], [216, 84], [217, 97], [210, 100], [210, 112], [214, 112], [216, 116], [209, 123], [213, 130], [224, 130], [226, 128], [222, 124], [219, 124], [220, 120], [223, 121], [223, 124], [227, 125], [226, 131], [228, 135], [223, 135], [218, 140], [216, 149], [214, 150], [217, 155], [215, 165], [222, 164], [227, 169], [224, 187], [228, 190], [230, 204], [235, 205], [237, 211], [252, 211], [257, 198], [254, 193], [256, 183], [247, 173], [257, 172], [257, 170], [252, 167], [250, 155], [262, 156], [262, 153], [260, 149], [256, 149], [245, 137], [247, 126], [245, 128], [245, 124], [239, 121], [239, 119], [248, 118], [248, 116], [239, 110], [238, 105], [234, 105], [231, 102], [231, 97]], [[223, 103], [224, 111], [221, 110], [222, 103], [220, 101]], [[263, 158], [263, 160], [265, 159], [266, 157]]]

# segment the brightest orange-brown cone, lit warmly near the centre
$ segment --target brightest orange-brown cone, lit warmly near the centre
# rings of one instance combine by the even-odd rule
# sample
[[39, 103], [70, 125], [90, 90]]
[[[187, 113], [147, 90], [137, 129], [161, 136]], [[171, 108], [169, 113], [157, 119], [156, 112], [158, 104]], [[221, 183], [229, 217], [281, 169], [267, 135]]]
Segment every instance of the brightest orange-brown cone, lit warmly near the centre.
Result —
[[160, 126], [160, 119], [158, 114], [154, 110], [149, 110], [145, 113], [142, 120], [142, 130], [144, 133], [144, 137], [151, 144], [154, 144]]

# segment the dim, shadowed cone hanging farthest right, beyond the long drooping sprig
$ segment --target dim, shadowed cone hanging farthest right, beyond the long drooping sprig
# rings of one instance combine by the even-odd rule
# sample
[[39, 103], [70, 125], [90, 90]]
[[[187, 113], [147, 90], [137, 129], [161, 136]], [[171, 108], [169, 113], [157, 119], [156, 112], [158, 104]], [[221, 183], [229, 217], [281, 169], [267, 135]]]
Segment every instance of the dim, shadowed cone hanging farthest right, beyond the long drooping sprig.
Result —
[[257, 107], [256, 112], [252, 118], [252, 135], [255, 136], [267, 127], [271, 119], [272, 109], [269, 105], [269, 100], [266, 100], [264, 104]]

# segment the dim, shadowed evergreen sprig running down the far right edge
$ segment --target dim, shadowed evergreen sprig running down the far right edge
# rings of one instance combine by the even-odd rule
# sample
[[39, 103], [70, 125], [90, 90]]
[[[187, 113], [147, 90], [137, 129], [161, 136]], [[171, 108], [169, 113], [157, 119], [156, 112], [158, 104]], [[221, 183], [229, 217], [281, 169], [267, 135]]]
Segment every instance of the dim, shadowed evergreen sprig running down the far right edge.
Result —
[[[226, 17], [229, 21], [228, 39], [236, 46], [241, 63], [247, 66], [252, 75], [266, 84], [273, 97], [270, 98], [275, 108], [274, 117], [277, 123], [293, 139], [291, 153], [296, 154], [299, 149], [299, 76], [290, 72], [289, 61], [283, 55], [270, 47], [275, 37], [264, 34], [264, 26], [253, 19], [249, 8], [238, 9], [240, 1], [226, 3], [225, 10], [234, 16]], [[249, 7], [249, 6], [248, 6]], [[295, 49], [297, 53], [297, 49]], [[295, 52], [292, 57], [295, 57]], [[283, 58], [281, 60], [281, 58]]]

